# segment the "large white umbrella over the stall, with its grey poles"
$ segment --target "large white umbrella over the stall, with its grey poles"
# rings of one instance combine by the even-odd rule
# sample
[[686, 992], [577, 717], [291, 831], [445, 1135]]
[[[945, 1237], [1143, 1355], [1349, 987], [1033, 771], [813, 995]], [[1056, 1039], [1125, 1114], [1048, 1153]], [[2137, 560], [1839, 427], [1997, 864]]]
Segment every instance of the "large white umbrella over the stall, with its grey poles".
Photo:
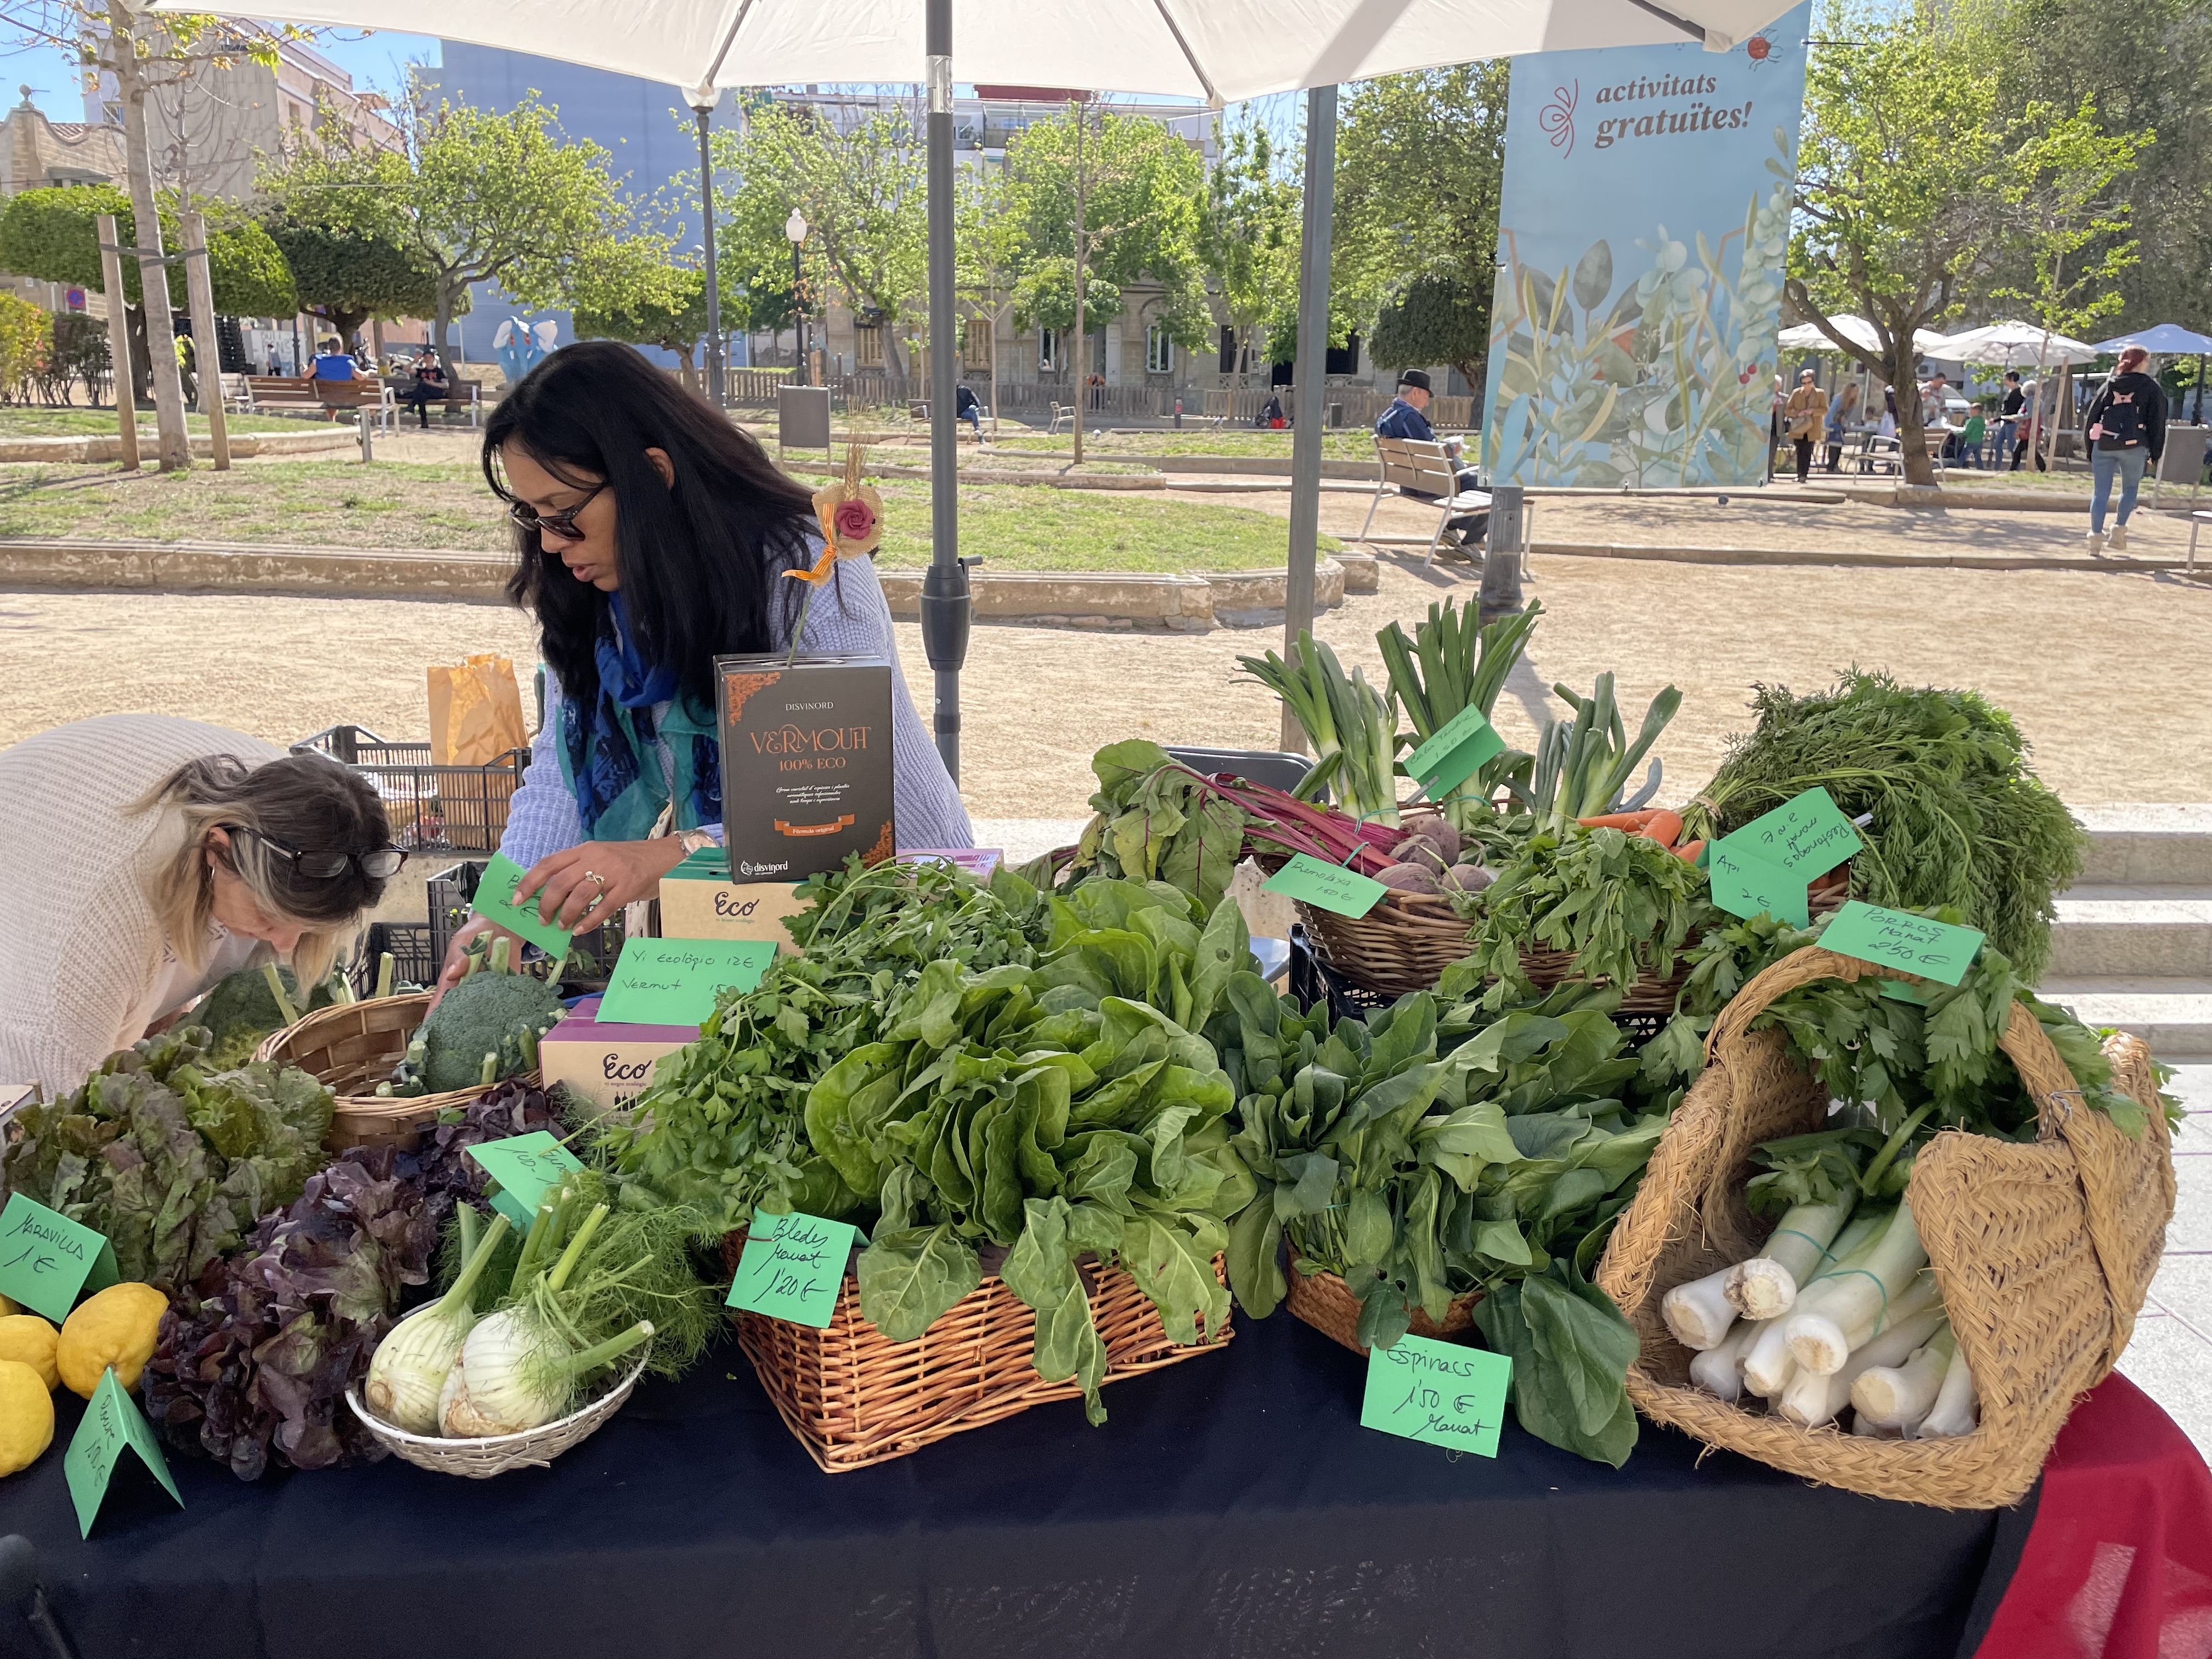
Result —
[[[204, 11], [159, 0], [153, 11]], [[1321, 522], [1321, 383], [1327, 345], [1336, 84], [1475, 58], [1683, 38], [1725, 51], [1790, 0], [274, 0], [257, 18], [398, 29], [562, 58], [684, 88], [909, 82], [929, 88], [931, 560], [922, 650], [936, 670], [936, 739], [960, 776], [960, 664], [969, 580], [960, 564], [953, 436], [953, 24], [964, 82], [1179, 93], [1221, 106], [1307, 88], [1305, 237], [1298, 281], [1285, 635], [1312, 624]], [[703, 124], [701, 124], [703, 133]], [[703, 146], [701, 146], [703, 148]], [[712, 190], [701, 177], [712, 212]], [[708, 334], [719, 341], [717, 283]], [[1491, 557], [1504, 575], [1506, 560]], [[1283, 714], [1285, 741], [1294, 737]]]

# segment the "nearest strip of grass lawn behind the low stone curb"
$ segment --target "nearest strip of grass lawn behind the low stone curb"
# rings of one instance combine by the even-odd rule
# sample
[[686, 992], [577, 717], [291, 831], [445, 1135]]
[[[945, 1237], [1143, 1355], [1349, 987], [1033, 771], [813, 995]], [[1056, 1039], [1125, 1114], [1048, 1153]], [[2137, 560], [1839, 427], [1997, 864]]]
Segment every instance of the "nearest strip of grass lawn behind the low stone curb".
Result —
[[[929, 562], [929, 484], [885, 480], [887, 566]], [[268, 460], [228, 473], [0, 467], [0, 535], [290, 546], [511, 546], [469, 462]], [[1334, 551], [1327, 542], [1323, 551]], [[1285, 560], [1283, 522], [1201, 502], [1020, 484], [960, 491], [960, 551], [1002, 571], [1250, 571]]]

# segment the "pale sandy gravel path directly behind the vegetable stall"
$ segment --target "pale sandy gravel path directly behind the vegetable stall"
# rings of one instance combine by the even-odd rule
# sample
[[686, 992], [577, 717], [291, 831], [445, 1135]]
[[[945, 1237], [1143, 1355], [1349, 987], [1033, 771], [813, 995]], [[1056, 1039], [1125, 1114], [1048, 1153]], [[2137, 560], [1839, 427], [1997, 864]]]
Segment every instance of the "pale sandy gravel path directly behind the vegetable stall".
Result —
[[[1471, 602], [1473, 591], [1471, 573], [1385, 555], [1380, 593], [1352, 597], [1321, 633], [1347, 661], [1376, 670], [1376, 628], [1391, 617], [1411, 626], [1433, 599]], [[2212, 637], [2212, 586], [2064, 571], [1540, 557], [1528, 595], [1546, 617], [1500, 706], [1500, 728], [1531, 745], [1531, 717], [1546, 703], [1557, 712], [1544, 686], [1584, 688], [1608, 668], [1635, 726], [1672, 681], [1683, 710], [1659, 745], [1668, 799], [1717, 765], [1725, 737], [1743, 726], [1752, 681], [1803, 690], [1856, 661], [1907, 681], [1984, 690], [2017, 717], [2042, 774], [2070, 801], [2212, 801], [2203, 699], [2188, 681]], [[898, 635], [927, 699], [918, 630], [902, 624]], [[1279, 646], [1274, 630], [980, 626], [964, 677], [971, 812], [1079, 814], [1093, 787], [1091, 752], [1119, 737], [1272, 745], [1272, 701], [1232, 681], [1237, 657], [1267, 646]], [[535, 661], [526, 619], [498, 606], [0, 591], [0, 743], [117, 710], [192, 714], [274, 741], [338, 721], [422, 737], [425, 666], [476, 650], [509, 653], [524, 681]]]

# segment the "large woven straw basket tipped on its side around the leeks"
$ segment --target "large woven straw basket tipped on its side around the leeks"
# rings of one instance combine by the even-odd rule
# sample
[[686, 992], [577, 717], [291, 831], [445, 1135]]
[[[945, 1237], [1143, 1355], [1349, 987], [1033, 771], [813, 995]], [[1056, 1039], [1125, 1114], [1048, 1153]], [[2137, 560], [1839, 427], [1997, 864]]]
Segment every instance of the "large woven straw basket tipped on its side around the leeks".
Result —
[[2075, 1398], [2112, 1369], [2159, 1265], [2174, 1166], [2150, 1051], [2135, 1037], [2108, 1040], [2106, 1053], [2115, 1084], [2150, 1117], [2141, 1139], [2081, 1104], [2035, 1015], [2013, 1004], [2000, 1046], [2042, 1106], [2039, 1139], [1944, 1133], [1913, 1166], [1907, 1197], [1982, 1402], [1973, 1433], [1874, 1440], [1756, 1416], [1688, 1387], [1690, 1354], [1659, 1316], [1668, 1290], [1750, 1256], [1772, 1228], [1743, 1206], [1752, 1148], [1818, 1128], [1827, 1110], [1781, 1033], [1752, 1035], [1752, 1018], [1812, 980], [1869, 973], [1905, 978], [1809, 947], [1736, 993], [1714, 1022], [1712, 1064], [1668, 1124], [1597, 1283], [1641, 1336], [1628, 1398], [1655, 1422], [1829, 1486], [1997, 1509], [2035, 1484]]

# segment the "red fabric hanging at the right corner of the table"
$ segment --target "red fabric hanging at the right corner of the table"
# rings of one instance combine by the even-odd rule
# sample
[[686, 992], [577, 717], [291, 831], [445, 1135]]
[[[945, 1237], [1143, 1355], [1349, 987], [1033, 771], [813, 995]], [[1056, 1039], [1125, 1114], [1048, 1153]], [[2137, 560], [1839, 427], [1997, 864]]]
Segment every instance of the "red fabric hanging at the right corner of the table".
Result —
[[2212, 1471], [2115, 1374], [2059, 1431], [2020, 1566], [1975, 1659], [2212, 1657]]

